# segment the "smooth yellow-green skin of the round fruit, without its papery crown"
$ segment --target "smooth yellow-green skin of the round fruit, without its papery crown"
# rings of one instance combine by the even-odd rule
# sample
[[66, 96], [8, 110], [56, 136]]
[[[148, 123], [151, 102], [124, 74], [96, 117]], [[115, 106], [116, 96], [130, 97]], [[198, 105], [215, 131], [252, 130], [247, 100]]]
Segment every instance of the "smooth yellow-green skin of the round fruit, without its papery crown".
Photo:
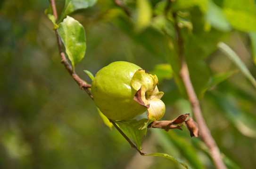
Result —
[[135, 101], [131, 86], [134, 73], [141, 69], [127, 61], [115, 61], [100, 69], [91, 84], [91, 93], [99, 110], [112, 120], [129, 120], [147, 108]]

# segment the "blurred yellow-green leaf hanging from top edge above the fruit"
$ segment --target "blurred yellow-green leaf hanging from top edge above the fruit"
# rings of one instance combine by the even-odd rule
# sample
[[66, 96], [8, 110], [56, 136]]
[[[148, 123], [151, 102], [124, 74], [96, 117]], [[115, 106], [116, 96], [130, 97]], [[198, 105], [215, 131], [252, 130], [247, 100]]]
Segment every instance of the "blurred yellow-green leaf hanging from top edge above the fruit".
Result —
[[137, 0], [136, 31], [144, 30], [151, 22], [152, 7], [149, 0]]

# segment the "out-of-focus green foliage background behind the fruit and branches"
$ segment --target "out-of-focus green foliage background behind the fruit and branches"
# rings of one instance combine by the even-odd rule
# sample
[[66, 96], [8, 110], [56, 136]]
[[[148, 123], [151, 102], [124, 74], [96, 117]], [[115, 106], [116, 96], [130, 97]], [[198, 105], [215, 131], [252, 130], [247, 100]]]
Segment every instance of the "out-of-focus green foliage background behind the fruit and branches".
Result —
[[[86, 55], [76, 72], [91, 83], [84, 69], [95, 75], [112, 61], [133, 62], [162, 78], [163, 120], [192, 115], [178, 75], [167, 0], [138, 1], [123, 1], [131, 18], [113, 0], [69, 14], [86, 31]], [[60, 16], [65, 2], [56, 3]], [[60, 64], [53, 25], [44, 14], [48, 7], [46, 0], [0, 1], [0, 168], [183, 168], [165, 158], [140, 156], [115, 129], [109, 130]], [[143, 11], [145, 17], [138, 15]], [[256, 77], [255, 2], [176, 0], [170, 11], [179, 16], [190, 77], [225, 163], [230, 169], [255, 168], [256, 89], [217, 49], [220, 41], [228, 44]], [[165, 67], [157, 66], [166, 63], [171, 64], [167, 75]], [[146, 153], [168, 153], [195, 169], [214, 168], [204, 143], [185, 129], [149, 129], [143, 140]]]

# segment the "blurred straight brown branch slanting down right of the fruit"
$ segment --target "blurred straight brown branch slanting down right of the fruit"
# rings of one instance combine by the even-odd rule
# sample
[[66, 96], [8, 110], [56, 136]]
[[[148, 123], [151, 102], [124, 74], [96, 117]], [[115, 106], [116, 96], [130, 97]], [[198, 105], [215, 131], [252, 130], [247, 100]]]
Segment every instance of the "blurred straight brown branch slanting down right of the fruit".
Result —
[[198, 123], [199, 135], [204, 140], [206, 146], [208, 146], [208, 148], [210, 149], [211, 157], [215, 163], [216, 168], [217, 169], [227, 169], [225, 164], [222, 161], [220, 150], [219, 150], [218, 146], [216, 145], [215, 140], [212, 137], [211, 132], [205, 123], [204, 117], [201, 113], [197, 95], [194, 91], [193, 85], [190, 80], [190, 73], [189, 73], [188, 65], [187, 65], [187, 62], [186, 62], [185, 56], [184, 56], [184, 43], [183, 43], [180, 28], [178, 26], [176, 13], [173, 13], [173, 18], [174, 18], [174, 22], [175, 22], [174, 26], [175, 26], [176, 36], [177, 36], [177, 40], [178, 40], [179, 55], [180, 55], [180, 59], [181, 59], [180, 76], [185, 85], [195, 118]]

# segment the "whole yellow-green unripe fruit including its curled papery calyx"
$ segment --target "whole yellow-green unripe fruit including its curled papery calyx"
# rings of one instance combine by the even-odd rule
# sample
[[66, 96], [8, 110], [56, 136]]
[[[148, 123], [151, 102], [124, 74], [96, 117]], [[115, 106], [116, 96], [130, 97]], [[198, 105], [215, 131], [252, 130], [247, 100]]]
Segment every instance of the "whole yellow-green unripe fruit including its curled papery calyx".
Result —
[[[149, 110], [150, 102], [147, 98], [160, 100], [163, 93], [158, 92], [157, 82], [156, 76], [147, 74], [139, 66], [126, 61], [115, 61], [97, 72], [91, 84], [91, 93], [95, 105], [107, 118], [129, 120], [144, 113], [147, 108]], [[148, 96], [147, 91], [150, 91]], [[161, 101], [160, 104], [163, 111], [164, 103]]]

